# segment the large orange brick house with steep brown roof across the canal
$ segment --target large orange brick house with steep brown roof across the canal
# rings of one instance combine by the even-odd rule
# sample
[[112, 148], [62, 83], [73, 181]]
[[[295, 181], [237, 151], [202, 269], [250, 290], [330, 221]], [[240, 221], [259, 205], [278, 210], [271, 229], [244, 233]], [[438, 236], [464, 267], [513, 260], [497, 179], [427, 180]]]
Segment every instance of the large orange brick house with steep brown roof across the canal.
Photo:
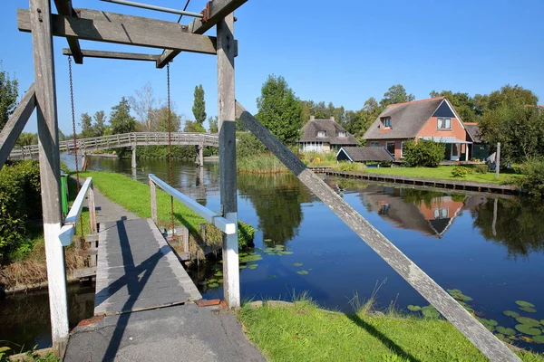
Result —
[[387, 106], [366, 130], [366, 146], [386, 148], [395, 158], [403, 158], [408, 140], [430, 139], [444, 143], [444, 159], [469, 160], [471, 138], [445, 97], [415, 100]]

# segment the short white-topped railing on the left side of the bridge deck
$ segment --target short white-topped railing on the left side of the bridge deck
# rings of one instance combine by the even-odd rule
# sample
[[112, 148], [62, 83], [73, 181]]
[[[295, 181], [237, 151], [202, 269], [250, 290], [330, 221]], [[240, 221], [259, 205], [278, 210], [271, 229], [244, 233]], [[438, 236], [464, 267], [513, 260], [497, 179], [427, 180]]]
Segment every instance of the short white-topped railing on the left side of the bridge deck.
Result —
[[91, 233], [96, 233], [96, 207], [94, 205], [94, 189], [92, 188], [92, 177], [88, 177], [80, 192], [75, 197], [70, 211], [64, 219], [63, 226], [59, 232], [59, 240], [63, 246], [68, 246], [72, 243], [73, 235], [77, 229], [77, 224], [83, 211], [83, 202], [87, 198], [87, 206], [89, 207], [89, 224], [91, 224]]

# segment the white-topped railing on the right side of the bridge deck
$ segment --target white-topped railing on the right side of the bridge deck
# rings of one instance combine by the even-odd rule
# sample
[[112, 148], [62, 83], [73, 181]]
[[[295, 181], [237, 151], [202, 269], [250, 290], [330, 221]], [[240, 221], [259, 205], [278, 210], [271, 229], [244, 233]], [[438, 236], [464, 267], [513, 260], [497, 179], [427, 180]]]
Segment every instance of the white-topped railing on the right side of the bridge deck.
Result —
[[157, 188], [159, 186], [164, 192], [172, 196], [176, 200], [180, 201], [181, 204], [189, 207], [191, 211], [196, 214], [199, 214], [204, 220], [209, 224], [216, 226], [222, 233], [231, 235], [237, 233], [237, 224], [228, 221], [226, 218], [222, 217], [220, 214], [217, 214], [208, 207], [200, 205], [198, 202], [193, 200], [187, 195], [183, 195], [180, 191], [176, 190], [172, 186], [168, 185], [166, 182], [162, 181], [159, 177], [150, 174], [150, 187], [151, 187], [151, 219], [157, 224]]

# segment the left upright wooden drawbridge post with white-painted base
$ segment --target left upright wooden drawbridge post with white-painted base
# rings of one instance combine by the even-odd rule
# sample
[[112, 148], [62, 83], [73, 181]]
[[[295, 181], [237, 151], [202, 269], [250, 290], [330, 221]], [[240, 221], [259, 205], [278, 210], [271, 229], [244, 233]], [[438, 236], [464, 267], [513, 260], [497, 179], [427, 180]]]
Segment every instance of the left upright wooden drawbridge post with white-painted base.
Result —
[[50, 0], [31, 0], [30, 14], [51, 335], [53, 353], [62, 360], [69, 329], [64, 249], [58, 237], [63, 212]]

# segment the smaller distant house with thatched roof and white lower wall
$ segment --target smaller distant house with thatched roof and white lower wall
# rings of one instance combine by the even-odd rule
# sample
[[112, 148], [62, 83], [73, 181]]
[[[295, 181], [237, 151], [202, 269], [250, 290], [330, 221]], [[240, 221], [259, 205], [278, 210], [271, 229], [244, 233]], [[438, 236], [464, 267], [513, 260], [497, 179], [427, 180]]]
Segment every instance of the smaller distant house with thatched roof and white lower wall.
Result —
[[298, 146], [303, 152], [329, 153], [345, 146], [359, 146], [360, 142], [342, 126], [331, 119], [315, 119], [314, 116], [302, 128]]

